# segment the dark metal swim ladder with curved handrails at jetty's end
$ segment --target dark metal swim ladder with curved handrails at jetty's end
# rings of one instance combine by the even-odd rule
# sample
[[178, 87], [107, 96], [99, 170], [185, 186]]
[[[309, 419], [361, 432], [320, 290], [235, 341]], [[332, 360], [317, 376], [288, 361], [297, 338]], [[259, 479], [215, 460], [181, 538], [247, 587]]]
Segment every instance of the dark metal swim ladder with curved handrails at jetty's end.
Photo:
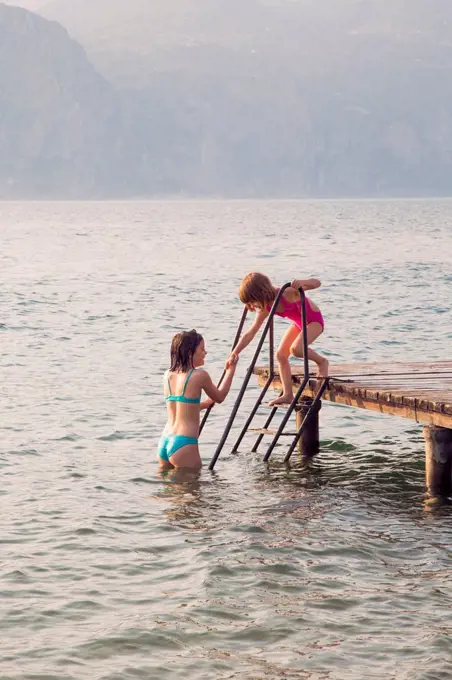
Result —
[[[213, 470], [213, 469], [214, 469], [215, 464], [216, 464], [216, 462], [217, 462], [217, 460], [218, 460], [218, 458], [219, 458], [219, 456], [220, 456], [220, 453], [221, 453], [221, 451], [223, 450], [223, 447], [224, 447], [224, 445], [225, 445], [225, 443], [226, 443], [226, 441], [227, 441], [227, 439], [228, 439], [229, 433], [230, 433], [231, 428], [232, 428], [232, 426], [233, 426], [233, 424], [234, 424], [235, 418], [236, 418], [236, 416], [237, 416], [237, 412], [238, 412], [238, 410], [239, 410], [239, 408], [240, 408], [240, 405], [241, 405], [241, 403], [242, 403], [243, 396], [244, 396], [244, 394], [245, 394], [246, 388], [248, 387], [248, 383], [249, 383], [249, 381], [250, 381], [250, 379], [251, 379], [251, 376], [252, 376], [252, 374], [253, 374], [254, 368], [255, 368], [255, 366], [256, 366], [256, 362], [257, 362], [257, 360], [258, 360], [258, 358], [259, 358], [259, 355], [260, 355], [260, 353], [261, 353], [261, 350], [262, 350], [262, 347], [263, 347], [263, 345], [264, 345], [264, 342], [265, 342], [265, 340], [266, 340], [267, 335], [269, 335], [269, 351], [270, 351], [270, 362], [269, 362], [269, 375], [268, 375], [268, 379], [267, 379], [267, 381], [265, 382], [265, 385], [264, 385], [264, 387], [262, 388], [261, 393], [260, 393], [260, 395], [258, 396], [258, 398], [257, 398], [257, 400], [256, 400], [256, 403], [254, 404], [254, 406], [253, 406], [253, 408], [252, 408], [252, 410], [251, 410], [251, 412], [250, 412], [250, 414], [249, 414], [249, 416], [248, 416], [248, 418], [247, 418], [247, 420], [246, 420], [246, 422], [245, 422], [245, 425], [243, 426], [242, 431], [240, 432], [240, 435], [239, 435], [237, 441], [235, 442], [235, 444], [234, 444], [234, 446], [233, 446], [233, 448], [232, 448], [232, 452], [233, 452], [233, 453], [236, 452], [236, 451], [238, 450], [238, 447], [240, 446], [240, 444], [241, 444], [241, 442], [242, 442], [242, 440], [243, 440], [245, 434], [246, 434], [248, 431], [250, 431], [250, 425], [251, 425], [251, 423], [252, 423], [252, 421], [253, 421], [253, 419], [254, 419], [254, 416], [256, 415], [256, 413], [257, 413], [259, 407], [261, 406], [262, 401], [263, 401], [263, 399], [264, 399], [264, 397], [265, 397], [265, 395], [266, 395], [266, 393], [267, 393], [267, 391], [268, 391], [268, 389], [269, 389], [271, 383], [273, 382], [273, 379], [274, 379], [274, 377], [275, 377], [275, 365], [274, 365], [274, 316], [275, 316], [276, 309], [277, 309], [277, 307], [278, 307], [278, 304], [279, 304], [279, 302], [280, 302], [280, 300], [281, 300], [281, 297], [282, 297], [284, 291], [285, 291], [287, 288], [289, 288], [289, 287], [290, 287], [290, 283], [284, 284], [284, 285], [280, 288], [280, 290], [279, 290], [279, 292], [278, 292], [278, 295], [276, 296], [276, 299], [275, 299], [275, 301], [273, 302], [272, 308], [271, 308], [271, 310], [270, 310], [270, 313], [269, 313], [269, 315], [268, 315], [267, 321], [266, 321], [266, 323], [265, 323], [264, 330], [263, 330], [263, 332], [262, 332], [262, 334], [261, 334], [261, 337], [260, 337], [260, 339], [259, 339], [259, 342], [258, 342], [256, 351], [255, 351], [254, 356], [253, 356], [253, 359], [252, 359], [252, 361], [251, 361], [250, 366], [248, 367], [248, 370], [247, 370], [247, 372], [246, 372], [246, 375], [245, 375], [245, 378], [244, 378], [244, 380], [243, 380], [242, 386], [241, 386], [241, 388], [240, 388], [239, 394], [238, 394], [238, 396], [237, 396], [237, 398], [236, 398], [236, 400], [235, 400], [234, 406], [233, 406], [233, 408], [232, 408], [231, 415], [229, 416], [229, 420], [228, 420], [228, 422], [227, 422], [227, 424], [226, 424], [226, 427], [225, 427], [225, 429], [224, 429], [223, 435], [222, 435], [222, 437], [221, 437], [221, 439], [220, 439], [220, 441], [219, 441], [219, 443], [218, 443], [218, 446], [217, 446], [216, 451], [215, 451], [215, 453], [214, 453], [214, 455], [213, 455], [213, 457], [212, 457], [212, 460], [210, 461], [209, 470]], [[284, 428], [286, 427], [286, 424], [287, 424], [287, 422], [288, 422], [290, 416], [292, 415], [293, 411], [295, 410], [295, 408], [296, 408], [296, 406], [297, 406], [299, 400], [301, 399], [301, 397], [302, 397], [302, 395], [303, 395], [303, 392], [304, 392], [304, 390], [305, 390], [305, 388], [306, 388], [306, 385], [307, 385], [308, 382], [309, 382], [308, 340], [307, 340], [307, 335], [306, 335], [306, 328], [307, 328], [307, 324], [306, 324], [306, 298], [305, 298], [304, 290], [303, 290], [302, 288], [299, 288], [299, 293], [300, 293], [300, 297], [301, 297], [301, 321], [302, 321], [302, 328], [303, 328], [303, 362], [304, 362], [304, 376], [303, 376], [303, 380], [301, 381], [301, 384], [300, 384], [300, 386], [299, 386], [297, 392], [296, 392], [295, 395], [294, 395], [294, 398], [292, 399], [291, 403], [289, 404], [289, 406], [288, 406], [288, 408], [287, 408], [287, 411], [286, 411], [286, 413], [284, 414], [284, 417], [282, 418], [282, 420], [281, 420], [281, 422], [280, 422], [280, 424], [279, 424], [278, 429], [276, 430], [275, 433], [268, 432], [268, 434], [273, 434], [273, 439], [272, 439], [272, 441], [271, 441], [271, 443], [270, 443], [270, 445], [269, 445], [269, 447], [268, 447], [268, 449], [267, 449], [267, 451], [266, 451], [266, 453], [265, 453], [264, 461], [268, 461], [268, 460], [269, 460], [269, 458], [270, 458], [270, 456], [271, 456], [271, 454], [272, 454], [273, 449], [275, 448], [276, 444], [278, 443], [278, 440], [279, 440], [279, 438], [281, 437], [281, 435], [284, 433]], [[239, 327], [238, 327], [238, 330], [237, 330], [235, 339], [234, 339], [234, 344], [233, 344], [233, 347], [232, 347], [233, 349], [234, 349], [234, 347], [236, 346], [237, 342], [239, 341], [239, 338], [240, 338], [240, 335], [241, 335], [243, 326], [244, 326], [244, 324], [245, 324], [246, 316], [247, 316], [247, 309], [245, 308], [245, 310], [244, 310], [244, 312], [243, 312], [243, 314], [242, 314], [242, 318], [241, 318], [241, 320], [240, 320], [240, 324], [239, 324]], [[222, 375], [222, 377], [221, 377], [221, 379], [220, 379], [220, 383], [221, 383], [221, 381], [222, 381], [223, 378], [224, 378], [224, 374], [225, 374], [225, 372], [223, 372], [223, 375]], [[312, 400], [312, 402], [309, 404], [309, 406], [308, 406], [308, 408], [307, 408], [307, 411], [306, 411], [306, 413], [305, 413], [305, 417], [303, 418], [303, 421], [302, 421], [302, 423], [301, 423], [301, 425], [300, 425], [298, 431], [295, 433], [294, 439], [293, 439], [293, 441], [292, 441], [292, 443], [291, 443], [291, 445], [290, 445], [290, 447], [289, 447], [289, 450], [287, 451], [287, 454], [286, 454], [286, 456], [285, 456], [285, 458], [284, 458], [284, 461], [287, 462], [287, 461], [290, 459], [290, 457], [291, 457], [291, 455], [292, 455], [292, 453], [293, 453], [295, 447], [297, 446], [298, 442], [300, 441], [300, 438], [301, 438], [301, 436], [302, 436], [302, 434], [303, 434], [303, 432], [304, 432], [306, 423], [308, 422], [308, 420], [309, 420], [309, 418], [311, 417], [312, 413], [315, 412], [315, 409], [317, 409], [317, 406], [318, 406], [318, 404], [319, 404], [319, 402], [320, 402], [320, 400], [321, 400], [321, 398], [322, 398], [322, 396], [323, 396], [323, 394], [324, 394], [324, 392], [325, 392], [325, 390], [326, 390], [326, 388], [327, 388], [327, 386], [328, 386], [328, 381], [329, 381], [329, 378], [323, 378], [323, 379], [322, 379], [320, 388], [319, 388], [319, 390], [317, 391], [317, 393], [316, 393], [314, 399]], [[220, 384], [220, 383], [219, 383], [219, 384]], [[210, 408], [206, 411], [206, 413], [205, 413], [205, 415], [204, 415], [204, 418], [203, 418], [203, 420], [202, 420], [202, 422], [201, 422], [201, 425], [200, 425], [200, 432], [202, 431], [202, 429], [204, 428], [204, 425], [206, 424], [206, 421], [207, 421], [207, 418], [209, 417], [209, 413], [210, 413], [211, 408], [212, 408], [212, 407], [210, 407]], [[267, 420], [265, 421], [265, 424], [264, 424], [262, 430], [260, 430], [260, 434], [259, 434], [259, 436], [258, 436], [258, 438], [257, 438], [257, 440], [256, 440], [256, 442], [255, 442], [255, 444], [254, 444], [254, 446], [253, 446], [253, 448], [252, 448], [252, 451], [253, 451], [253, 452], [256, 452], [256, 451], [258, 450], [259, 445], [260, 445], [260, 443], [261, 443], [263, 437], [265, 436], [265, 434], [267, 434], [267, 430], [268, 430], [268, 428], [269, 428], [269, 426], [270, 426], [270, 424], [271, 424], [271, 422], [272, 422], [272, 420], [273, 420], [273, 418], [274, 418], [274, 416], [275, 416], [275, 414], [276, 414], [277, 411], [278, 411], [278, 407], [277, 407], [277, 406], [274, 406], [274, 407], [272, 408], [272, 410], [270, 411], [270, 414], [269, 414]]]

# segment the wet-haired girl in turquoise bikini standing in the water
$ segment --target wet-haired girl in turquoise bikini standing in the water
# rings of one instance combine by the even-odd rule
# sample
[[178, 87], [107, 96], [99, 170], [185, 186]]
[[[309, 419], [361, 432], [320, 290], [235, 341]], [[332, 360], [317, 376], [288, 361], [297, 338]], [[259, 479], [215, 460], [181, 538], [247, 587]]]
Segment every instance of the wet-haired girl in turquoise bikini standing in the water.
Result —
[[[204, 340], [195, 330], [174, 336], [171, 366], [163, 382], [168, 422], [158, 447], [161, 467], [196, 469], [202, 466], [198, 449], [200, 412], [226, 399], [237, 364], [229, 360], [224, 379], [217, 388], [207, 371], [200, 368], [206, 354]], [[202, 391], [209, 397], [203, 402]]]

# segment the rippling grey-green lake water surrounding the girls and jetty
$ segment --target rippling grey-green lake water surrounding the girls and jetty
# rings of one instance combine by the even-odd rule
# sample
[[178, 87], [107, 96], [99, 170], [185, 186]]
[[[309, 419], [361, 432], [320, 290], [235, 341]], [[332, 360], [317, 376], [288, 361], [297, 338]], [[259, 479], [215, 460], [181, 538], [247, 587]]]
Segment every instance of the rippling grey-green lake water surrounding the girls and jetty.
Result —
[[219, 377], [248, 271], [322, 280], [333, 372], [450, 359], [452, 201], [1, 203], [0, 224], [0, 678], [452, 678], [452, 510], [425, 504], [419, 425], [325, 404], [309, 467], [252, 437], [213, 473], [156, 461], [171, 337], [196, 327]]

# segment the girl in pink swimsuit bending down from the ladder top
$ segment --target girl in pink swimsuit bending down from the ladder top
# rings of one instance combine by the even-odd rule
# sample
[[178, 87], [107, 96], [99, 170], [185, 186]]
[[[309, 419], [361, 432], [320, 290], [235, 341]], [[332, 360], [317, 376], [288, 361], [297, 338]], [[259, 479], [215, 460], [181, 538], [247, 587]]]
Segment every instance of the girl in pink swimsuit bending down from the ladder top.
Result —
[[[319, 288], [318, 279], [294, 279], [289, 288], [286, 288], [281, 296], [276, 314], [285, 319], [289, 319], [292, 325], [284, 333], [283, 339], [276, 352], [276, 359], [279, 365], [279, 373], [283, 386], [283, 393], [278, 399], [270, 402], [271, 405], [287, 404], [293, 399], [292, 374], [290, 370], [289, 357], [303, 356], [303, 333], [301, 321], [301, 299], [299, 288], [303, 290], [314, 290]], [[260, 327], [268, 317], [271, 306], [278, 295], [279, 288], [275, 288], [270, 279], [264, 274], [253, 272], [248, 274], [240, 284], [239, 297], [246, 307], [256, 312], [256, 318], [250, 328], [242, 335], [228, 361], [237, 361], [238, 355], [253, 340]], [[307, 340], [311, 345], [323, 333], [324, 322], [320, 309], [306, 298], [306, 324]], [[328, 360], [317, 354], [309, 347], [308, 358], [317, 364], [317, 375], [328, 375]], [[228, 364], [227, 364], [228, 365]]]

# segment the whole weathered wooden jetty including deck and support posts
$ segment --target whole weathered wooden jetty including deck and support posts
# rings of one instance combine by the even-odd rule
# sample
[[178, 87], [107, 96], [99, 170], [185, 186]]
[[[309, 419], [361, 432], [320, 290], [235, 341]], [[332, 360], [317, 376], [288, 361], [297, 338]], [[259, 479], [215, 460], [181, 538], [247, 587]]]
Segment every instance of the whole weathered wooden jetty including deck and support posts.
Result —
[[[254, 369], [259, 384], [269, 377], [269, 367]], [[452, 361], [434, 363], [341, 364], [330, 366], [325, 401], [400, 416], [424, 426], [426, 441], [426, 483], [431, 495], [452, 493]], [[303, 366], [292, 366], [292, 383], [297, 391], [304, 377]], [[277, 369], [271, 383], [281, 389]], [[301, 422], [303, 402], [312, 399], [319, 382], [312, 376], [301, 400], [297, 421]], [[319, 413], [309, 418], [300, 450], [313, 455], [318, 449]]]

